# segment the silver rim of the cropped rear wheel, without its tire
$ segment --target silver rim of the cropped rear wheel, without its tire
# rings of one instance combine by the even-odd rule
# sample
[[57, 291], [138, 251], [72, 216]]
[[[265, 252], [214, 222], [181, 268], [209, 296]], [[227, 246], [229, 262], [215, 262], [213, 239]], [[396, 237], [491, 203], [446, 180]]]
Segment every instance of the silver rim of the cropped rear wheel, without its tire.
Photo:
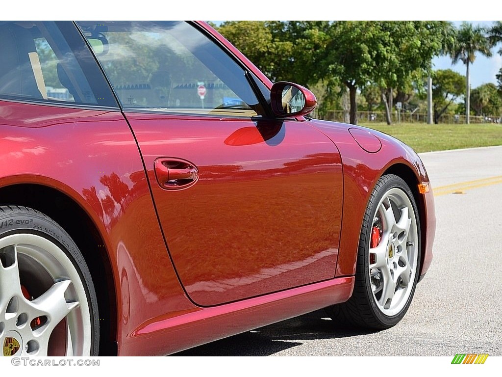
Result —
[[18, 233], [0, 239], [0, 259], [2, 355], [89, 356], [86, 290], [66, 253], [47, 238]]

